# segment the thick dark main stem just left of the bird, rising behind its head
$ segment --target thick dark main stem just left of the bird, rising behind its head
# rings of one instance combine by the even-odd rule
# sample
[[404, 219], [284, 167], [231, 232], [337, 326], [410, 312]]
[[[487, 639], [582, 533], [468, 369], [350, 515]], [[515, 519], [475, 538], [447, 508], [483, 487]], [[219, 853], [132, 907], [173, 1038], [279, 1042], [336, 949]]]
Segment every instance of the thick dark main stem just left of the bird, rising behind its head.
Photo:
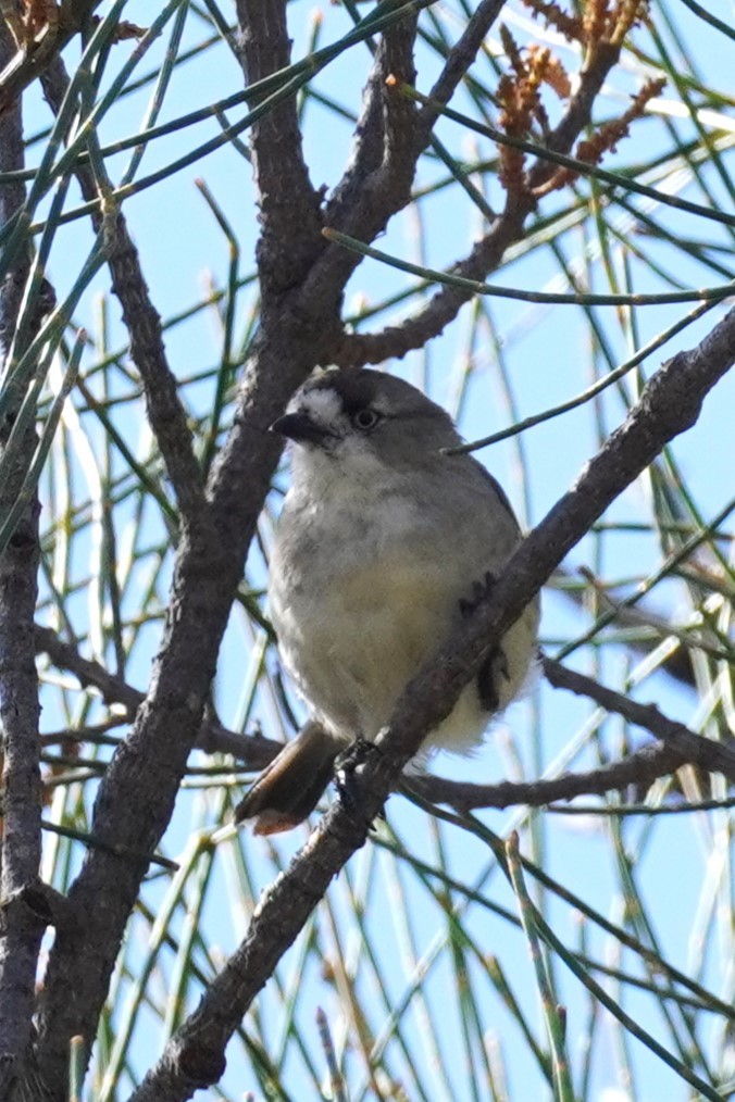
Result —
[[[263, 4], [262, 18], [270, 20], [274, 7], [282, 6], [275, 0]], [[260, 18], [253, 10], [253, 25]], [[268, 129], [260, 129], [253, 143], [262, 138], [267, 145], [271, 137]], [[264, 163], [270, 164], [272, 152]], [[274, 164], [271, 168], [274, 171]], [[266, 173], [258, 183], [264, 187], [269, 181]], [[287, 187], [293, 188], [293, 183], [284, 174], [274, 192], [262, 196], [264, 237], [281, 225], [280, 218], [290, 217], [278, 202]], [[322, 361], [337, 332], [342, 287], [325, 281], [309, 295], [299, 287], [284, 293], [268, 276], [269, 248], [259, 253], [263, 266], [259, 338], [240, 386], [233, 430], [212, 469], [207, 522], [182, 529], [151, 684], [95, 801], [91, 830], [102, 843], [114, 842], [117, 852], [102, 845], [87, 854], [69, 890], [77, 925], [58, 932], [50, 955], [37, 1015], [39, 1061], [54, 1102], [66, 1098], [69, 1039], [80, 1035], [87, 1056], [91, 1048], [147, 868], [145, 860], [131, 855], [152, 853], [158, 845], [199, 734], [233, 598], [280, 455], [268, 426]], [[283, 248], [288, 250], [288, 242]], [[293, 273], [292, 261], [287, 269]]]

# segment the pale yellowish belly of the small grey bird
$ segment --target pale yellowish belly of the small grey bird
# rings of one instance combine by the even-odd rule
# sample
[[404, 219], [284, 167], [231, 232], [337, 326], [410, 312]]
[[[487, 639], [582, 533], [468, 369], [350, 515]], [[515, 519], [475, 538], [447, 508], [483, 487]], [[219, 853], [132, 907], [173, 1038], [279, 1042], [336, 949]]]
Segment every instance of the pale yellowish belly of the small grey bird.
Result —
[[[478, 570], [475, 576], [482, 576]], [[467, 576], [469, 575], [469, 576]], [[271, 590], [279, 649], [316, 719], [349, 742], [374, 739], [411, 678], [461, 620], [460, 601], [472, 592], [473, 571], [453, 583], [445, 568], [406, 557], [367, 562], [312, 577], [309, 590]], [[499, 709], [517, 693], [534, 647], [536, 617], [504, 639], [507, 677], [497, 678]], [[466, 750], [490, 719], [473, 682], [424, 748]]]

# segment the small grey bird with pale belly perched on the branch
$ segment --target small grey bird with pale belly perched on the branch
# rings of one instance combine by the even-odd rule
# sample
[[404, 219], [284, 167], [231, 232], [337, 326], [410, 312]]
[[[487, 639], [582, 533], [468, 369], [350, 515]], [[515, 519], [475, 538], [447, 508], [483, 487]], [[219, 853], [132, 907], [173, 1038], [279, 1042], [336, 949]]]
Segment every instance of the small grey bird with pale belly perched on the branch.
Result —
[[[296, 825], [337, 755], [374, 741], [420, 666], [441, 646], [520, 540], [497, 482], [448, 414], [401, 379], [328, 370], [293, 397], [272, 431], [292, 441], [292, 484], [270, 560], [269, 599], [284, 667], [311, 719], [235, 810], [257, 834]], [[537, 649], [533, 601], [429, 733], [468, 752], [518, 693]]]

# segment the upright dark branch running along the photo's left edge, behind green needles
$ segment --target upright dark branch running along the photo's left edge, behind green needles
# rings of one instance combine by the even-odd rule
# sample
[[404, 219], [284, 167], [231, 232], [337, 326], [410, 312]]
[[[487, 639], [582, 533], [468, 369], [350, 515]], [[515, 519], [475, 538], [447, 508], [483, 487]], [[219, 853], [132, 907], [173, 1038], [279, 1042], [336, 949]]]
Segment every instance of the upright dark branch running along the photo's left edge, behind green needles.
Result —
[[[0, 22], [0, 67], [12, 56], [12, 43]], [[20, 102], [0, 114], [0, 172], [25, 166]], [[25, 190], [15, 182], [0, 187], [0, 225], [22, 209]], [[0, 350], [3, 367], [12, 345], [29, 253], [22, 251], [0, 288]], [[34, 324], [40, 325], [40, 318]], [[31, 334], [34, 335], [34, 334]], [[8, 517], [35, 452], [33, 422], [25, 429], [14, 460], [7, 451], [20, 399], [11, 398], [0, 424], [3, 477], [0, 516]], [[10, 467], [10, 469], [9, 469]], [[0, 1098], [11, 1099], [30, 1055], [31, 1022], [41, 938], [47, 925], [43, 908], [33, 906], [41, 861], [41, 774], [39, 682], [33, 649], [37, 597], [39, 499], [32, 494], [4, 551], [0, 554], [0, 725], [2, 727], [2, 867], [0, 871]]]

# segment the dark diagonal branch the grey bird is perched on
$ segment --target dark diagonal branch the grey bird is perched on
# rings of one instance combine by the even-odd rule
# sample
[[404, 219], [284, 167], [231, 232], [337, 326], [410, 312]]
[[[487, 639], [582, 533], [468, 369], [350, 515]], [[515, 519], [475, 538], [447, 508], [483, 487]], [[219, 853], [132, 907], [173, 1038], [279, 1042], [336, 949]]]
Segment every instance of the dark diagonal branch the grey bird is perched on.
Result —
[[332, 878], [364, 844], [367, 824], [379, 813], [425, 732], [451, 712], [496, 640], [591, 525], [670, 440], [696, 421], [705, 395], [733, 363], [735, 309], [696, 348], [679, 354], [653, 376], [625, 423], [514, 553], [487, 604], [408, 685], [389, 727], [379, 736], [382, 753], [372, 754], [356, 777], [361, 802], [349, 812], [335, 804], [288, 871], [266, 890], [244, 942], [166, 1045], [131, 1102], [181, 1102], [195, 1089], [216, 1081], [229, 1037]]

